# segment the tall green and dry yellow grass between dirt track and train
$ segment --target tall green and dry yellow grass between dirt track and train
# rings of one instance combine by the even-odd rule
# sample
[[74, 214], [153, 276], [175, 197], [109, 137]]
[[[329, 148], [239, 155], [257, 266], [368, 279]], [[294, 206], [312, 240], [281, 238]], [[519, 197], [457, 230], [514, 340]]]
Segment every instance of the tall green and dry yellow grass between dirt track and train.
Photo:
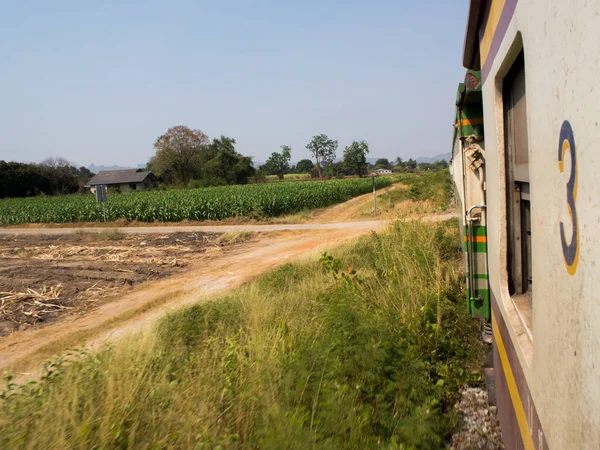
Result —
[[0, 448], [439, 448], [478, 377], [457, 224], [395, 223], [0, 395]]

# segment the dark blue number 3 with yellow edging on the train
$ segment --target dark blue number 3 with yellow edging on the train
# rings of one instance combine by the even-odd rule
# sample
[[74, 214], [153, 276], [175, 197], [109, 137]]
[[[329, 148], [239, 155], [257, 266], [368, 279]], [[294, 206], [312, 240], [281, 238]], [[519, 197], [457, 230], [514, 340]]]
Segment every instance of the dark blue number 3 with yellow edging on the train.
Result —
[[577, 264], [579, 263], [579, 221], [577, 220], [577, 155], [575, 154], [575, 138], [573, 129], [568, 120], [565, 120], [560, 129], [560, 138], [558, 140], [558, 170], [561, 173], [565, 170], [565, 154], [571, 153], [571, 176], [567, 182], [567, 205], [569, 207], [569, 216], [573, 224], [573, 234], [571, 242], [567, 243], [565, 238], [565, 224], [560, 223], [560, 241], [565, 258], [565, 265], [569, 275], [575, 275]]

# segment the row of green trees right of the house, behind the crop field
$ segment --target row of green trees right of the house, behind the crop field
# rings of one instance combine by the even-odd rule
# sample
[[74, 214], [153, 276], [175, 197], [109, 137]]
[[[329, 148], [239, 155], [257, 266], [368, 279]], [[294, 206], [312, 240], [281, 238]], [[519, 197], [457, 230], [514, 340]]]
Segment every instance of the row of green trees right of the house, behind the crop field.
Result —
[[354, 141], [344, 148], [343, 157], [337, 160], [338, 141], [326, 134], [313, 136], [306, 145], [312, 160], [302, 159], [291, 164], [292, 148], [282, 145], [281, 151], [271, 153], [267, 161], [255, 168], [250, 156], [235, 149], [235, 139], [221, 136], [212, 141], [200, 130], [185, 126], [170, 128], [154, 143], [155, 155], [148, 163], [163, 185], [217, 186], [265, 182], [267, 175], [280, 180], [287, 174], [309, 173], [312, 178], [339, 178], [347, 175], [368, 175], [375, 169], [394, 172], [414, 172], [448, 167], [445, 161], [418, 164], [415, 160], [396, 158], [390, 163], [385, 158], [375, 164], [367, 162], [369, 144]]

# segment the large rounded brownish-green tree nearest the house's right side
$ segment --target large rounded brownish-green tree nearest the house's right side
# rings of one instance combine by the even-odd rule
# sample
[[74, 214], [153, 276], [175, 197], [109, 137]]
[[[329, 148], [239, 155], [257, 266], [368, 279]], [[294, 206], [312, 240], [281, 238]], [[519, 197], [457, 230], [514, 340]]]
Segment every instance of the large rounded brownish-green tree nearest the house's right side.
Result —
[[200, 130], [185, 126], [169, 128], [156, 139], [156, 153], [148, 163], [149, 168], [171, 184], [186, 185], [199, 176], [207, 154], [208, 136]]

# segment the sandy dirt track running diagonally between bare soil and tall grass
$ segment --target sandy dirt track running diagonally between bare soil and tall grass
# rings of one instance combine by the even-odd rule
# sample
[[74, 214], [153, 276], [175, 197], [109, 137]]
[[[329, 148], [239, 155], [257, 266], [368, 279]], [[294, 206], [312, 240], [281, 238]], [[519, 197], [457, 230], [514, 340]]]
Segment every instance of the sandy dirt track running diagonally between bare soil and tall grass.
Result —
[[222, 255], [200, 255], [185, 273], [141, 284], [83, 317], [69, 317], [0, 338], [0, 371], [10, 369], [21, 380], [35, 378], [41, 363], [58, 352], [81, 346], [98, 348], [124, 333], [151, 325], [175, 308], [204, 301], [300, 256], [383, 227], [383, 222], [376, 222], [368, 227], [350, 224], [343, 231], [283, 231], [275, 237], [263, 235]]

